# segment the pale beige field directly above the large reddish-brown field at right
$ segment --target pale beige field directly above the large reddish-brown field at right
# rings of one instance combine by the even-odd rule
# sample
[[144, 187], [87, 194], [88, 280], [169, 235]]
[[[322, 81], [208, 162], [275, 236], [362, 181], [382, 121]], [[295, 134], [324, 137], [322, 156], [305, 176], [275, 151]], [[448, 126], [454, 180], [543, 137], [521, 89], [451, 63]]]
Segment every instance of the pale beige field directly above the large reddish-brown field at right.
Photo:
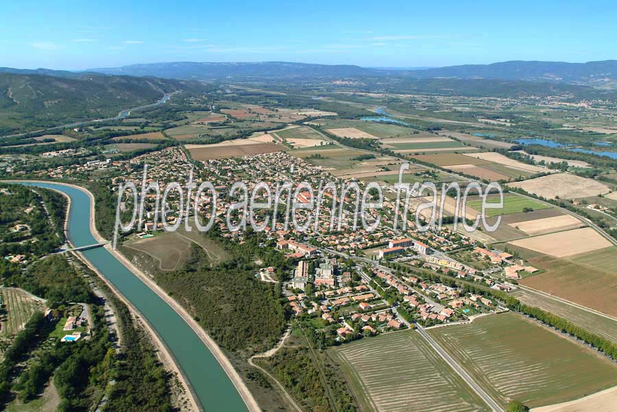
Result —
[[514, 240], [510, 243], [555, 257], [572, 256], [612, 246], [611, 242], [590, 227], [549, 233], [548, 235]]

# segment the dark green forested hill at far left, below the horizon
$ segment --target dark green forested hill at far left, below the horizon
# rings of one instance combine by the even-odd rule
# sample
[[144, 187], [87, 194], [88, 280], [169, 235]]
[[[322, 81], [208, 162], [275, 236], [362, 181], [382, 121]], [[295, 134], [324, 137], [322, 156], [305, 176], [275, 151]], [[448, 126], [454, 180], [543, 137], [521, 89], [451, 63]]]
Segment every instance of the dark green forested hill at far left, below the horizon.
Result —
[[155, 77], [0, 73], [0, 136], [117, 116], [123, 109], [154, 103], [166, 92], [195, 87]]

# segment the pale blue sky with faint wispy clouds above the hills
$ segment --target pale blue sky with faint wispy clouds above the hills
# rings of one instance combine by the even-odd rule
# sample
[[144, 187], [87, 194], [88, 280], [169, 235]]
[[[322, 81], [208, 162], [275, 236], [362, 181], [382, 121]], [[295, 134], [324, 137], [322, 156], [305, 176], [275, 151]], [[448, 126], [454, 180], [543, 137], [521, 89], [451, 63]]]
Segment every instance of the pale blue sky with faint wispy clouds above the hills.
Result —
[[[0, 1], [0, 66], [617, 59], [614, 1]], [[93, 2], [94, 3], [94, 2]]]

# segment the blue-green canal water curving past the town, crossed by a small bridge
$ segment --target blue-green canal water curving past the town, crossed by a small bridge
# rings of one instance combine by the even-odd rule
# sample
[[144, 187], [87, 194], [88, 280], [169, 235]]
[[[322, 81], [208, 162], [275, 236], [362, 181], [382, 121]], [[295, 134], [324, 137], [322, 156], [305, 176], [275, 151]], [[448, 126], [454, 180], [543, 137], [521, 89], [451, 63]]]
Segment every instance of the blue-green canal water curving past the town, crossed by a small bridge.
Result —
[[[71, 198], [69, 238], [74, 246], [97, 243], [90, 232], [90, 197], [75, 188], [53, 183], [23, 182], [58, 190]], [[247, 411], [240, 394], [217, 359], [165, 300], [136, 277], [105, 248], [82, 252], [156, 330], [207, 412]]]

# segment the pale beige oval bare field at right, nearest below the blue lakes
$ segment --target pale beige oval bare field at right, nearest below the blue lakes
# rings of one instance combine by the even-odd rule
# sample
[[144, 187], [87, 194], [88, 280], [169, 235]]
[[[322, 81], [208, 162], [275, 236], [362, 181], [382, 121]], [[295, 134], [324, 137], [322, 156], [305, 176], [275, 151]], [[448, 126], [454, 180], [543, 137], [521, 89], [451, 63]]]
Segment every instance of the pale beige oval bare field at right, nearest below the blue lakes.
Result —
[[526, 192], [545, 198], [555, 198], [555, 196], [567, 199], [581, 198], [597, 196], [598, 194], [605, 194], [610, 191], [608, 186], [603, 183], [568, 173], [557, 173], [537, 177], [536, 179], [509, 183], [509, 186], [522, 188]]

